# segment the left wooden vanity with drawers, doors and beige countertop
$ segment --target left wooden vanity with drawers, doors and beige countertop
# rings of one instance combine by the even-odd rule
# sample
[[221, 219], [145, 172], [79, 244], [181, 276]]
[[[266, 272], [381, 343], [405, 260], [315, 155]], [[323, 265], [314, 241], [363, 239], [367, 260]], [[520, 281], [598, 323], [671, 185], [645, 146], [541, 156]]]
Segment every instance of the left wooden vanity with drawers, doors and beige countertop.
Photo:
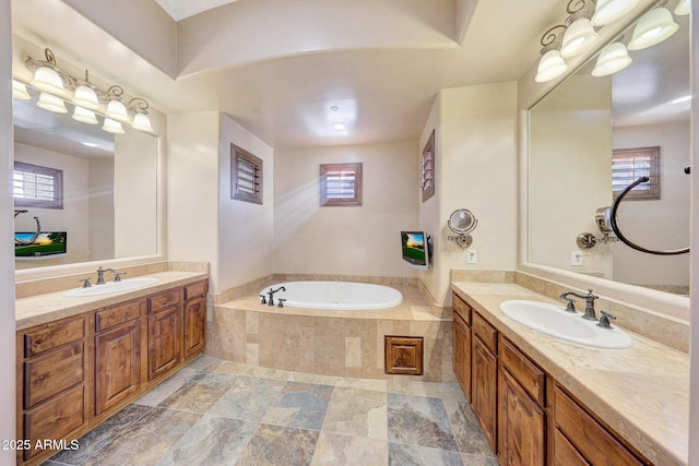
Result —
[[152, 276], [126, 292], [16, 301], [19, 465], [70, 447], [204, 348], [206, 274]]

